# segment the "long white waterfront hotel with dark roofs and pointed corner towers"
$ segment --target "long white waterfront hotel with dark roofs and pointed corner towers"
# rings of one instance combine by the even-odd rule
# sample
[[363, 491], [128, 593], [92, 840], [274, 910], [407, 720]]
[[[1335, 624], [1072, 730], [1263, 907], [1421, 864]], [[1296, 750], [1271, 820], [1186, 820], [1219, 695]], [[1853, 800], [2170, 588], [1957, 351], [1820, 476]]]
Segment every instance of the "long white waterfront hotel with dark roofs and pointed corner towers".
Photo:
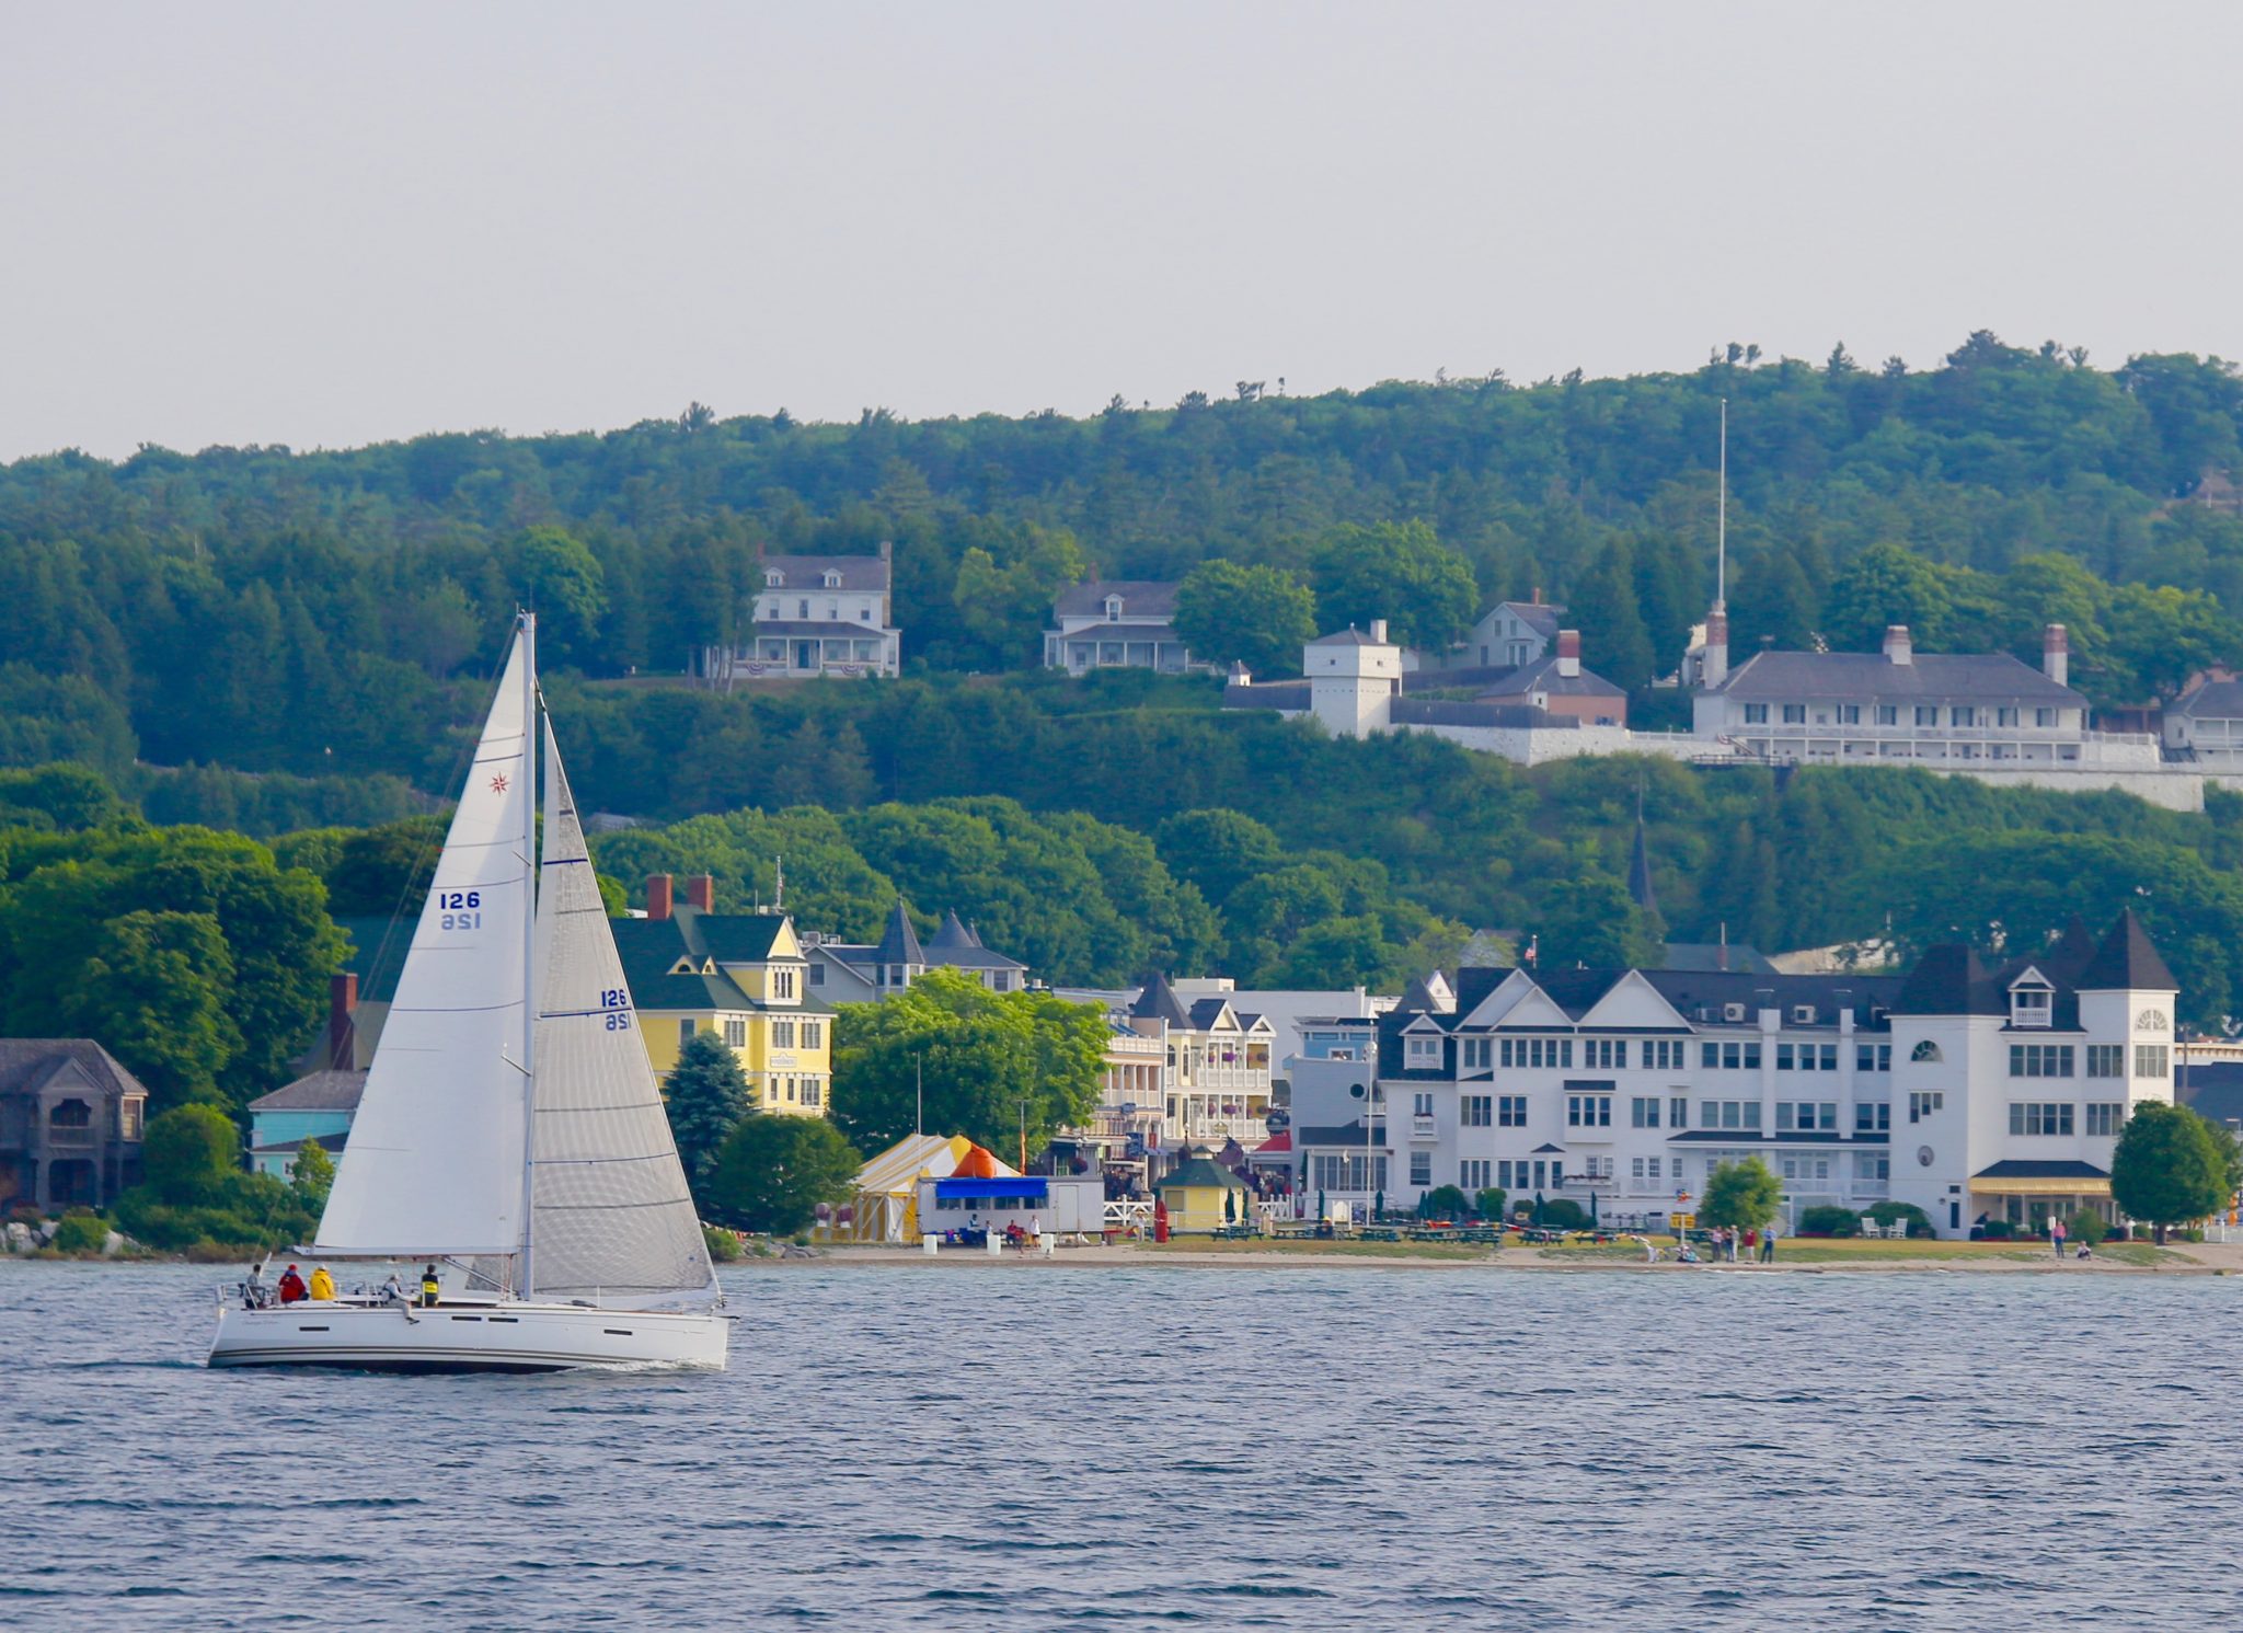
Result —
[[[1759, 1155], [1792, 1220], [1886, 1198], [1940, 1236], [2113, 1216], [2120, 1126], [2173, 1097], [2176, 994], [2131, 913], [2001, 971], [1965, 947], [1909, 976], [1465, 969], [1453, 1005], [1382, 1018], [1368, 1133], [1391, 1207], [1492, 1184], [1664, 1227], [1714, 1164]], [[1321, 1160], [1303, 1189], [1348, 1198], [1362, 1162]]]

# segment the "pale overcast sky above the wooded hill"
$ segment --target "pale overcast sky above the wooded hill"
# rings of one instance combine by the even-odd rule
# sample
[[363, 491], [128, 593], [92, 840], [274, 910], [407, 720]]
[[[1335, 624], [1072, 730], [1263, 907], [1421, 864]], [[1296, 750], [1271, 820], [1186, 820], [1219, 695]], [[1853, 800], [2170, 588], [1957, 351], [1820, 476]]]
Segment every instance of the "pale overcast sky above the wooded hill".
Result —
[[0, 458], [2243, 357], [2236, 4], [0, 4]]

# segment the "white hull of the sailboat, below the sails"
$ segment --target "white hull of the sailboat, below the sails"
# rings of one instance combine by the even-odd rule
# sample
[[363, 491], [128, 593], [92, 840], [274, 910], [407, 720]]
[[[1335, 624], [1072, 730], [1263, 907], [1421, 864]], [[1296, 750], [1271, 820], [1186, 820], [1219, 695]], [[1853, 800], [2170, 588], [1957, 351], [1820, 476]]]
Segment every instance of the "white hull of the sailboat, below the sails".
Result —
[[720, 1314], [574, 1303], [292, 1303], [222, 1310], [211, 1366], [368, 1373], [559, 1373], [576, 1366], [724, 1366]]

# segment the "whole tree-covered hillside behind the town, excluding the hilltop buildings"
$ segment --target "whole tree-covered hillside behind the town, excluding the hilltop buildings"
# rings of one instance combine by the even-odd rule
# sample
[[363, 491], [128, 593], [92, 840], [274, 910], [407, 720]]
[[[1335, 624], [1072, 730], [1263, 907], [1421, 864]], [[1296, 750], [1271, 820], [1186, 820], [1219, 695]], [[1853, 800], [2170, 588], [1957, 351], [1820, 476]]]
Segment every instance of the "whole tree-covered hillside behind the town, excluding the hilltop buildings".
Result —
[[[608, 435], [56, 455], [0, 469], [0, 765], [81, 760], [108, 803], [87, 816], [83, 778], [58, 774], [0, 787], [0, 828], [29, 834], [4, 841], [7, 911], [63, 902], [34, 888], [40, 868], [141, 866], [141, 839], [52, 837], [139, 821], [271, 839], [283, 877], [301, 864], [352, 911], [395, 899], [426, 821], [343, 830], [455, 785], [507, 615], [529, 601], [579, 794], [650, 823], [599, 841], [633, 884], [711, 870], [742, 904], [785, 855], [807, 922], [868, 935], [904, 893], [1070, 982], [1166, 965], [1395, 985], [1478, 929], [1586, 960], [1660, 933], [1994, 942], [2129, 899], [2191, 980], [2191, 1012], [2225, 1014], [2243, 839], [2221, 796], [2176, 816], [1889, 769], [1525, 774], [1427, 738], [1332, 742], [1222, 713], [1204, 677], [1027, 668], [1056, 585], [1200, 570], [1285, 639], [1303, 617], [1386, 615], [1438, 642], [1541, 588], [1572, 606], [1595, 668], [1671, 700], [1649, 682], [1714, 590], [1723, 397], [1741, 651], [1866, 646], [1907, 621], [1924, 648], [2032, 655], [2061, 619], [2104, 707], [2243, 653], [2225, 476], [2243, 471], [2243, 377], [2194, 357], [2099, 370], [1987, 334], [1927, 370], [1738, 348], [1691, 375], [1245, 386], [1090, 419], [823, 426], [695, 406]], [[758, 550], [881, 538], [904, 680], [740, 695], [675, 680], [689, 648], [738, 630]], [[1285, 639], [1263, 628], [1254, 646], [1254, 619], [1234, 621], [1258, 666], [1283, 662]], [[1649, 924], [1619, 886], [1637, 799]], [[188, 875], [218, 866], [193, 855]], [[153, 911], [206, 917], [213, 888]], [[130, 895], [94, 906], [126, 917]], [[132, 956], [215, 956], [209, 929], [139, 926]], [[9, 980], [29, 1025], [47, 976]]]

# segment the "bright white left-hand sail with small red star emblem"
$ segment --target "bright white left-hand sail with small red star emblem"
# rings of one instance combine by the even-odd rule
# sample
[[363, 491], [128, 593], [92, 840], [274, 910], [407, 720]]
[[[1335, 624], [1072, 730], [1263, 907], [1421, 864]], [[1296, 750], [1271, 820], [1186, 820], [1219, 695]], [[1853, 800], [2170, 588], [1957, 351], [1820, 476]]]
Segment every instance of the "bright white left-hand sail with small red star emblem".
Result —
[[529, 736], [523, 637], [498, 680], [397, 976], [314, 1254], [516, 1254]]

